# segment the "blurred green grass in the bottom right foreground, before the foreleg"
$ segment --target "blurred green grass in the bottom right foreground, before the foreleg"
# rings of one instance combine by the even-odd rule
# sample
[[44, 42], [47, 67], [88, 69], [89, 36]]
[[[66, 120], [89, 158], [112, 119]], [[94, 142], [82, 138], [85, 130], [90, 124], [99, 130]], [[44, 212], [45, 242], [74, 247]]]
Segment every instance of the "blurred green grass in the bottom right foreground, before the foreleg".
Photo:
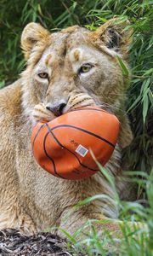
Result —
[[[147, 207], [143, 207], [139, 201], [120, 201], [112, 177], [108, 175], [104, 167], [99, 166], [99, 169], [116, 194], [116, 205], [119, 207], [120, 220], [122, 221], [122, 236], [113, 236], [109, 230], [96, 230], [94, 224], [100, 225], [107, 222], [104, 220], [88, 220], [80, 230], [76, 231], [74, 236], [71, 236], [65, 230], [61, 231], [65, 234], [69, 243], [75, 247], [75, 252], [77, 248], [77, 253], [80, 252], [82, 255], [153, 255], [153, 169], [150, 176], [145, 172], [139, 173], [144, 177], [143, 183], [142, 179], [137, 177], [137, 182], [140, 182], [146, 189], [148, 195]], [[138, 172], [135, 172], [134, 175], [138, 175]], [[95, 195], [79, 202], [77, 208], [98, 198], [105, 198], [109, 201], [107, 195]], [[111, 220], [111, 222], [115, 222], [115, 220]], [[82, 234], [83, 239], [78, 242], [77, 237], [82, 237]]]

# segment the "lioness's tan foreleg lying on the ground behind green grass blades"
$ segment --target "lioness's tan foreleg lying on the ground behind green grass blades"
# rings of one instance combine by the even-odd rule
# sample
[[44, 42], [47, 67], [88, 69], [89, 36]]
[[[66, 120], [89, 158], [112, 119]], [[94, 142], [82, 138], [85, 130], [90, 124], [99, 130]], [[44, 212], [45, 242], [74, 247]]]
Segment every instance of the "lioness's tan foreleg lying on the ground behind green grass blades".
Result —
[[68, 209], [62, 215], [59, 234], [61, 236], [62, 232], [65, 234], [66, 231], [77, 241], [89, 237], [92, 240], [94, 237], [93, 230], [95, 230], [98, 236], [97, 239], [105, 241], [104, 238], [107, 237], [107, 241], [110, 241], [111, 244], [106, 245], [106, 247], [110, 247], [122, 241], [125, 234], [127, 236], [138, 236], [138, 230], [142, 228], [146, 227], [139, 222], [123, 222], [119, 219], [106, 218], [100, 213], [84, 212], [82, 209], [77, 211]]

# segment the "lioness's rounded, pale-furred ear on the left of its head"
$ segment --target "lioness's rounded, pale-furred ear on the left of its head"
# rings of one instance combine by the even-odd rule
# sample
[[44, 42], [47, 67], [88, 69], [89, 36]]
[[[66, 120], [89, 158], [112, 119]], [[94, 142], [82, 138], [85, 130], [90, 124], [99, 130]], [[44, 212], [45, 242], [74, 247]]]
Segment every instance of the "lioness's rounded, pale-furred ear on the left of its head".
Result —
[[31, 49], [38, 41], [46, 42], [50, 33], [40, 24], [31, 22], [24, 28], [21, 35], [21, 48], [24, 50], [26, 60], [31, 54]]

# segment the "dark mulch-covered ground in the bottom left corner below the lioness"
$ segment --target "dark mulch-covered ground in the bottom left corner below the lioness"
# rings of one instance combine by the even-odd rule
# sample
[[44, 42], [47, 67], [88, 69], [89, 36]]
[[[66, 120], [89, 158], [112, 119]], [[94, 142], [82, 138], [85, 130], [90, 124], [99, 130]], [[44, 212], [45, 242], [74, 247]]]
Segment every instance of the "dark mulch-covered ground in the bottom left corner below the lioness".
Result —
[[49, 232], [26, 236], [19, 230], [0, 230], [0, 256], [62, 255], [81, 256], [71, 246], [67, 250], [66, 240]]

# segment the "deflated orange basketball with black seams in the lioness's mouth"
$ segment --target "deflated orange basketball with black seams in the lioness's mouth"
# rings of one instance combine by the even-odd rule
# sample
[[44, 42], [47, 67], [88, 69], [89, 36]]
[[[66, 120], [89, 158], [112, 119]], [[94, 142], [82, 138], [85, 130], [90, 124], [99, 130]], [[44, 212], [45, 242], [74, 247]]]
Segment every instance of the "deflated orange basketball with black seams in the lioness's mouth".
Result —
[[56, 177], [82, 179], [99, 171], [90, 150], [105, 166], [116, 146], [119, 121], [101, 108], [79, 108], [48, 122], [31, 134], [37, 163]]

